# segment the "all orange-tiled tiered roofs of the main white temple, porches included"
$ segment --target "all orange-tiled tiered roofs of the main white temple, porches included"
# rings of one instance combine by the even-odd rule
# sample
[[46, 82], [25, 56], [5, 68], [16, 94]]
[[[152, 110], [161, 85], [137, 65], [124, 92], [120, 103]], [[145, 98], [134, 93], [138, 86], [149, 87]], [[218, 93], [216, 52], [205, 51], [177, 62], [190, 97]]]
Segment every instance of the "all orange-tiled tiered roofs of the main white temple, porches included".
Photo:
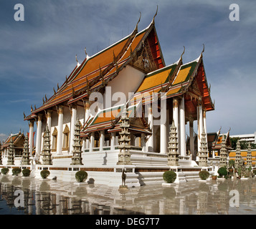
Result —
[[[59, 104], [68, 106], [78, 101], [85, 102], [92, 92], [105, 92], [108, 83], [118, 77], [120, 71], [126, 66], [138, 69], [145, 74], [134, 97], [130, 98], [130, 104], [136, 104], [133, 99], [142, 99], [141, 105], [151, 102], [150, 96], [153, 92], [163, 92], [163, 97], [167, 99], [184, 94], [187, 114], [196, 120], [196, 107], [199, 99], [202, 99], [205, 110], [214, 109], [204, 71], [202, 53], [194, 61], [184, 64], [182, 62], [183, 52], [177, 62], [166, 66], [158, 42], [154, 19], [141, 32], [138, 32], [137, 24], [131, 34], [93, 57], [89, 57], [85, 51], [86, 58], [82, 64], [77, 61], [77, 66], [70, 76], [66, 77], [64, 84], [61, 87], [57, 86], [57, 91], [54, 89], [54, 94], [49, 99], [45, 96], [43, 105], [32, 109], [31, 115], [27, 117], [24, 115], [24, 120], [33, 120], [39, 113], [44, 114], [46, 109], [56, 109], [55, 106]], [[86, 136], [96, 129], [117, 131], [118, 120], [116, 120], [113, 109], [116, 109], [117, 114], [120, 113], [120, 107], [112, 107], [112, 110], [101, 110], [94, 117], [91, 116], [85, 120], [81, 136]], [[110, 116], [100, 117], [102, 113], [110, 111], [112, 112]], [[131, 127], [134, 127], [135, 131], [151, 134], [145, 118], [141, 117], [139, 120], [141, 122], [139, 126], [133, 125], [133, 120], [131, 120]], [[188, 120], [189, 117], [186, 117], [186, 121]]]

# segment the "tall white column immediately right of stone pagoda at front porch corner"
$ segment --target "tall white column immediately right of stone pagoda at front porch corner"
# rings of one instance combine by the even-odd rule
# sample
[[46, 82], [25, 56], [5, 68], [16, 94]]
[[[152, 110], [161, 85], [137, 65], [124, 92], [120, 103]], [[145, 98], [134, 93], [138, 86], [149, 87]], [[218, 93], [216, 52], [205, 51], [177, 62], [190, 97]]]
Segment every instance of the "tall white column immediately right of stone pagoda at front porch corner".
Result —
[[179, 109], [179, 122], [180, 122], [180, 145], [181, 156], [186, 156], [186, 122], [185, 122], [185, 101], [184, 97], [181, 99], [181, 105]]

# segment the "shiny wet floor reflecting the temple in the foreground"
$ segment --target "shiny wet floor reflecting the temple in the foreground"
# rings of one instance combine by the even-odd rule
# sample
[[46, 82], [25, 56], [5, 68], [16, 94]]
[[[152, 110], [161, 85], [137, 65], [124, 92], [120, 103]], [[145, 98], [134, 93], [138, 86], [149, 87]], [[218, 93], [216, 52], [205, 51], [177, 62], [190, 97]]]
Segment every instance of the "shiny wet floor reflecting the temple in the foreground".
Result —
[[118, 187], [0, 175], [0, 215], [256, 214], [256, 178]]

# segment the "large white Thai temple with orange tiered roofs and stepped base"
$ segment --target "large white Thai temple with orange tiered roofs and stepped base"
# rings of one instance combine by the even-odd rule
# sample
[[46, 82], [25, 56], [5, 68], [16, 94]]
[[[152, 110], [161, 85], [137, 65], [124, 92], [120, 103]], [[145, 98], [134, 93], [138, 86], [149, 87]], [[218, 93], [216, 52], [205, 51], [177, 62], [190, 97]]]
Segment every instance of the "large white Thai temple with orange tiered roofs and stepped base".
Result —
[[[125, 169], [129, 187], [163, 182], [167, 170], [177, 172], [177, 182], [198, 179], [200, 170], [214, 172], [206, 137], [214, 102], [204, 48], [186, 63], [182, 48], [166, 64], [155, 16], [146, 29], [138, 31], [137, 23], [131, 34], [91, 57], [85, 49], [85, 59], [52, 97], [42, 95], [42, 106], [31, 107], [24, 115], [31, 160], [22, 167], [35, 177], [49, 170], [50, 177], [74, 182], [75, 172], [85, 170], [88, 181], [112, 186], [121, 184]], [[3, 155], [1, 167], [7, 160]]]

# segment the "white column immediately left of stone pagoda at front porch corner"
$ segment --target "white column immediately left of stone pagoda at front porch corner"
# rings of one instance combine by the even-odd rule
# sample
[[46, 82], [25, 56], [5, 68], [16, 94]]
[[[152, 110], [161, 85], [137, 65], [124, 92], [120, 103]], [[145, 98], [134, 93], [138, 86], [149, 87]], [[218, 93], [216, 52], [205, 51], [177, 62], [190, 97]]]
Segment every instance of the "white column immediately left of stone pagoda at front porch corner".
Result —
[[161, 105], [161, 117], [165, 115], [161, 119], [160, 123], [160, 153], [167, 153], [167, 109], [166, 103], [165, 105]]

